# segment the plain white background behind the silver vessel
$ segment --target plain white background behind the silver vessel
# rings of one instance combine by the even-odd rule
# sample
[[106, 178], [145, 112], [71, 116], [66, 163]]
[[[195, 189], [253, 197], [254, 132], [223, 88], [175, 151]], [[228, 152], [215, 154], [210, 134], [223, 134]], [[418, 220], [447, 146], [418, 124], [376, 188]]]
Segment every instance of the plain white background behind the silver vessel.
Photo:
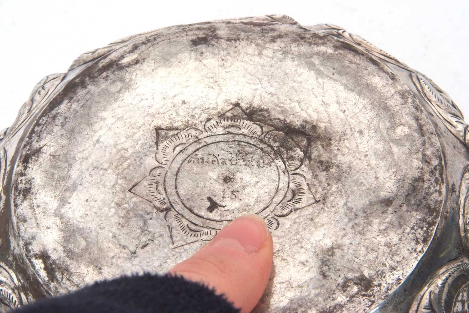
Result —
[[265, 14], [362, 36], [429, 76], [469, 118], [469, 0], [0, 0], [0, 129], [42, 77], [65, 72], [85, 51], [161, 27]]

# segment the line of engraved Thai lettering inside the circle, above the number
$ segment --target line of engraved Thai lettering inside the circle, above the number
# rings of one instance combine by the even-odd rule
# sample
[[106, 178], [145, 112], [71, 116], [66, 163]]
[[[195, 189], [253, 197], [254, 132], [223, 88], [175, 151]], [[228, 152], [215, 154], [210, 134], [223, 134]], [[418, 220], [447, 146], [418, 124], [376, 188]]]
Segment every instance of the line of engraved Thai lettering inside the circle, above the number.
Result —
[[246, 167], [271, 167], [272, 159], [259, 155], [245, 155], [233, 153], [230, 155], [193, 154], [187, 158], [186, 163], [199, 166], [246, 166]]

